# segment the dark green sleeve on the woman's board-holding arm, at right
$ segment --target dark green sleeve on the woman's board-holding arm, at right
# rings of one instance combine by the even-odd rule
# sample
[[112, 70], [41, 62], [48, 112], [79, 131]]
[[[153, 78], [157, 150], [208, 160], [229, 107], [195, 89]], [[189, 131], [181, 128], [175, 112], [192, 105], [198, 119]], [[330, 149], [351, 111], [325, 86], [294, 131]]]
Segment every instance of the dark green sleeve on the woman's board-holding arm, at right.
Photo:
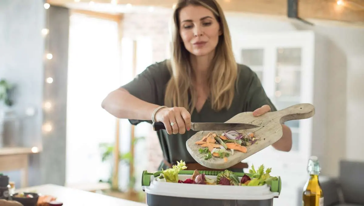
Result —
[[272, 101], [268, 98], [257, 74], [252, 71], [247, 94], [247, 112], [253, 112], [263, 105], [269, 105], [272, 112], [277, 111]]

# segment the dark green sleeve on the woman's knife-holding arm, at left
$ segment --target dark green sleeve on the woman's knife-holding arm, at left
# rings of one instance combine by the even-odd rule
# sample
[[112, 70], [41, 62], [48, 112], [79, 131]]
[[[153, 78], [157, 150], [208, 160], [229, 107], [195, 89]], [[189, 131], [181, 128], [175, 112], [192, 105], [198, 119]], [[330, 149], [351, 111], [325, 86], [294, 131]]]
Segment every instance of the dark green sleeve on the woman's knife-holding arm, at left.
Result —
[[[156, 105], [163, 105], [164, 90], [169, 80], [169, 72], [165, 64], [156, 63], [147, 67], [133, 80], [120, 88], [126, 89], [131, 95]], [[143, 120], [129, 120], [137, 125]]]

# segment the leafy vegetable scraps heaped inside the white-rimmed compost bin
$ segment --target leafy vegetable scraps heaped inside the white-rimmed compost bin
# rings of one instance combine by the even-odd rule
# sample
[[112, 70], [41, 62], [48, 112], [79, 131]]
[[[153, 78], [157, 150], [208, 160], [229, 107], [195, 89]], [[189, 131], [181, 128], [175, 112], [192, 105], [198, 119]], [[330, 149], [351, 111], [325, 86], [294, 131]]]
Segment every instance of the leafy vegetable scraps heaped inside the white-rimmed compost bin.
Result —
[[[250, 174], [244, 174], [240, 180], [239, 177], [230, 170], [224, 170], [218, 173], [216, 175], [216, 180], [207, 178], [205, 174], [199, 173], [198, 170], [194, 170], [191, 178], [182, 181], [178, 179], [178, 173], [180, 170], [184, 170], [187, 167], [182, 160], [177, 163], [177, 166], [174, 165], [172, 168], [167, 169], [168, 171], [163, 170], [162, 174], [157, 178], [157, 181], [199, 185], [270, 186], [273, 180], [278, 180], [278, 177], [270, 176], [272, 168], [267, 168], [264, 171], [264, 165], [261, 165], [258, 170], [255, 170], [254, 165], [252, 165], [252, 169], [249, 170]], [[177, 177], [175, 177], [175, 174], [177, 174]]]

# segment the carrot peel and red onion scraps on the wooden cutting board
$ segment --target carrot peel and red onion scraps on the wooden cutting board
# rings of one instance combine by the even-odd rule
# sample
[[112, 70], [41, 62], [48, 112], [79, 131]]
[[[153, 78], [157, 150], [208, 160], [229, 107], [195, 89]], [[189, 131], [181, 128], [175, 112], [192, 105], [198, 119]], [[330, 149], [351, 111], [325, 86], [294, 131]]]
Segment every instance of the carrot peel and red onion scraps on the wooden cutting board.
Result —
[[[258, 139], [254, 137], [254, 133], [239, 133], [236, 130], [223, 132], [221, 135], [209, 132], [202, 140], [195, 144], [203, 147], [199, 149], [199, 153], [203, 154], [204, 159], [210, 159], [212, 156], [223, 158], [225, 162], [227, 157], [234, 155], [234, 150], [246, 153], [246, 146], [255, 144]], [[230, 151], [229, 151], [229, 150]], [[202, 158], [201, 157], [201, 158]]]

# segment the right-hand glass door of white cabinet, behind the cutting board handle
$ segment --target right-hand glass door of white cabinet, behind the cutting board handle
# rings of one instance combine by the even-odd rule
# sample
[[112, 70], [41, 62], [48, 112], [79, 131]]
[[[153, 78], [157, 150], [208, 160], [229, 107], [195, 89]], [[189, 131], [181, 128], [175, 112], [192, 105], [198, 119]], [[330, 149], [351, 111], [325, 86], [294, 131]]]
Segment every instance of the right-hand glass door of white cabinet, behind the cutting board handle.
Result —
[[[278, 110], [300, 104], [301, 100], [301, 48], [277, 48], [275, 68], [274, 104]], [[285, 122], [292, 130], [292, 151], [298, 151], [300, 120]]]

